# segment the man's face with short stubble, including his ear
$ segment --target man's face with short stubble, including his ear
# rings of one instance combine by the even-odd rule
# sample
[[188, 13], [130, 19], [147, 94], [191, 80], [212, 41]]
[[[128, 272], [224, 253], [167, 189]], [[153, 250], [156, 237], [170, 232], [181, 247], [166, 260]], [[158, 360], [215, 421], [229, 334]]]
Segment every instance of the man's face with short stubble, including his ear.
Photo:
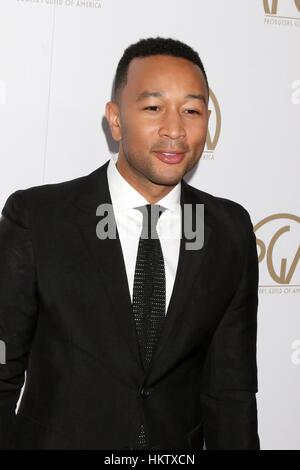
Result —
[[159, 185], [169, 191], [205, 146], [209, 112], [203, 74], [184, 58], [135, 58], [119, 103], [107, 104], [106, 117], [120, 141], [121, 174], [136, 188]]

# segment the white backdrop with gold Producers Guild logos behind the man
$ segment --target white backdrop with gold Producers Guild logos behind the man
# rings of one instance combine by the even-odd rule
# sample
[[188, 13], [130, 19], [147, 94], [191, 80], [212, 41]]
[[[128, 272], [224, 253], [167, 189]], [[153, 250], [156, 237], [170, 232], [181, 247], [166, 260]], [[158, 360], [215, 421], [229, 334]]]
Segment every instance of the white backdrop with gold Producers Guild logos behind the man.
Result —
[[261, 446], [300, 449], [300, 0], [0, 0], [0, 206], [117, 152], [105, 103], [124, 49], [150, 36], [206, 68], [207, 144], [185, 179], [251, 214]]

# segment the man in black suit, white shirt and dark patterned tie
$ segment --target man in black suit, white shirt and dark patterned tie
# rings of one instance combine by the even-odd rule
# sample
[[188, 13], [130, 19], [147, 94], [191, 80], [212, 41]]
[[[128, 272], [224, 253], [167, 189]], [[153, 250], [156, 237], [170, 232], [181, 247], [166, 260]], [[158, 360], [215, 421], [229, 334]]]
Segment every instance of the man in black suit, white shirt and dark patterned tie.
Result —
[[[141, 40], [106, 105], [118, 156], [8, 197], [0, 448], [259, 449], [253, 225], [183, 180], [205, 146], [208, 99], [193, 49]], [[145, 207], [148, 222], [159, 208], [148, 240]]]

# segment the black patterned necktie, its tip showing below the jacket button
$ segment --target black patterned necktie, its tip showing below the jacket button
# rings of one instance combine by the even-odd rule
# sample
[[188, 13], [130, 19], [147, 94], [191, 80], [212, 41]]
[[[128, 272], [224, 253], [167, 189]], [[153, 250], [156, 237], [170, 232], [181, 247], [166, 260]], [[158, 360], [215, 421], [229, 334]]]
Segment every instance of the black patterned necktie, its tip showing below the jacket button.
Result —
[[[165, 208], [158, 204], [147, 204], [136, 209], [143, 214], [143, 227], [136, 258], [132, 307], [141, 357], [146, 369], [165, 318], [165, 265], [156, 230], [157, 221]], [[148, 446], [145, 427], [141, 424], [137, 448], [145, 449]]]

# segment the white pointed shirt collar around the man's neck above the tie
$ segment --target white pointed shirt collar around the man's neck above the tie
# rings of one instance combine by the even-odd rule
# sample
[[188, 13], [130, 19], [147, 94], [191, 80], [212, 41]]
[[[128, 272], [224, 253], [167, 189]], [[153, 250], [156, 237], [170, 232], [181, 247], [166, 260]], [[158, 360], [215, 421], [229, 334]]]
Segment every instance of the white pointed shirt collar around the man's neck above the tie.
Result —
[[[120, 212], [149, 204], [149, 201], [123, 178], [116, 167], [117, 159], [118, 155], [112, 154], [107, 166], [108, 186], [114, 211]], [[180, 208], [180, 195], [181, 182], [177, 183], [177, 185], [157, 203], [172, 212], [178, 212]]]

